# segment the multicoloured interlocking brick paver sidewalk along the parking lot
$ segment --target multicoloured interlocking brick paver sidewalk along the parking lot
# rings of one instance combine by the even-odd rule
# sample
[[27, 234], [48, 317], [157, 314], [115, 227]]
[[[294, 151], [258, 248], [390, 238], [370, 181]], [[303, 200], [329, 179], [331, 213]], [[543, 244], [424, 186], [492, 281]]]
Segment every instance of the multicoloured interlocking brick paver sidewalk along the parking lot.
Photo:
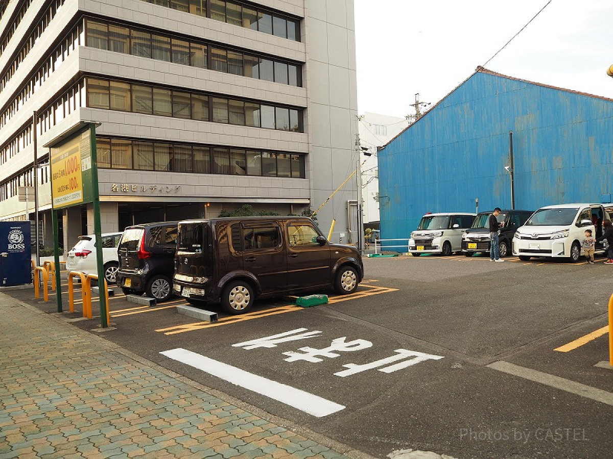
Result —
[[209, 392], [0, 293], [0, 459], [366, 457]]

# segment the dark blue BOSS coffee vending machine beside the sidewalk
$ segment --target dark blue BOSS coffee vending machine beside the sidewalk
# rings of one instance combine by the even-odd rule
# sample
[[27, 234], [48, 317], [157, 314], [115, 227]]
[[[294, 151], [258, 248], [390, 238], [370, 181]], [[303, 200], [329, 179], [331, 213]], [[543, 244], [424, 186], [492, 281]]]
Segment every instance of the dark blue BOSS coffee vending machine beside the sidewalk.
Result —
[[30, 222], [0, 222], [0, 285], [32, 283]]

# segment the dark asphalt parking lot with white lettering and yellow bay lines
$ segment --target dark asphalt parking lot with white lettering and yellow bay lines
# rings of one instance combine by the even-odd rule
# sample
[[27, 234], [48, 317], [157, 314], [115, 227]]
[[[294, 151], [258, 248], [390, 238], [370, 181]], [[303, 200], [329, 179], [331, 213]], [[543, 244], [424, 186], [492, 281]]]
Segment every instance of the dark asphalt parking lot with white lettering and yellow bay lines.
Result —
[[[375, 457], [610, 453], [611, 266], [462, 255], [364, 264], [355, 294], [316, 292], [329, 303], [313, 308], [262, 300], [243, 316], [212, 305], [217, 323], [178, 314], [181, 299], [149, 307], [115, 288], [100, 335]], [[32, 290], [7, 293], [56, 313], [53, 294], [41, 302]], [[79, 298], [59, 315], [99, 330], [97, 302], [82, 320]]]

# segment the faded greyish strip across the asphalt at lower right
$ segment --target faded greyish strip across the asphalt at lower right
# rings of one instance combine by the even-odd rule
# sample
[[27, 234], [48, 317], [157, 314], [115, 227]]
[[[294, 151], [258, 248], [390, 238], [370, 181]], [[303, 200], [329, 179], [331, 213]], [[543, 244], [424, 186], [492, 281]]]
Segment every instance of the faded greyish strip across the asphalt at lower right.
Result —
[[543, 371], [531, 370], [530, 368], [509, 364], [509, 362], [503, 362], [501, 360], [493, 362], [487, 365], [487, 367], [493, 368], [493, 370], [503, 371], [503, 373], [508, 373], [509, 375], [530, 379], [530, 381], [535, 381], [535, 383], [541, 383], [546, 386], [555, 387], [556, 389], [565, 390], [571, 394], [581, 395], [581, 397], [591, 398], [592, 400], [600, 401], [607, 405], [613, 405], [613, 394], [611, 392], [576, 383], [570, 379], [560, 378], [560, 376], [549, 375], [548, 373], [543, 373]]

